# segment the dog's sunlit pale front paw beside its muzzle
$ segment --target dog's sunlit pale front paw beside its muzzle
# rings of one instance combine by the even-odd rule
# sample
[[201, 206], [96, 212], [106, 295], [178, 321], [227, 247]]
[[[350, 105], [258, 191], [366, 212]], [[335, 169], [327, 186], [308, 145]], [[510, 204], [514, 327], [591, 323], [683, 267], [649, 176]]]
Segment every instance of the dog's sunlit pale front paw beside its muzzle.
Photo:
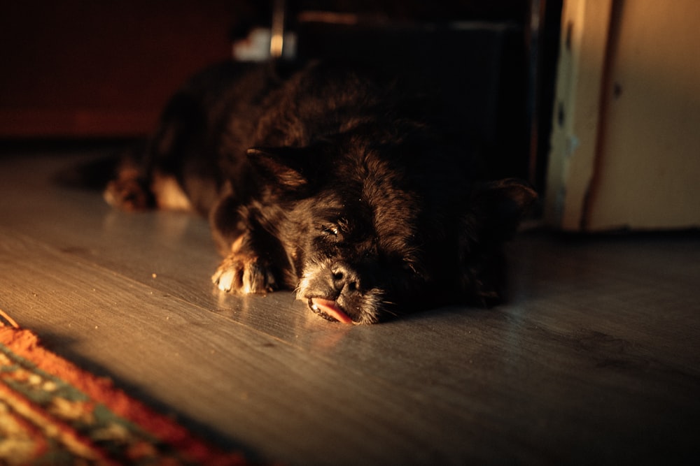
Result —
[[267, 293], [276, 288], [269, 266], [256, 256], [233, 253], [223, 260], [211, 280], [221, 291]]

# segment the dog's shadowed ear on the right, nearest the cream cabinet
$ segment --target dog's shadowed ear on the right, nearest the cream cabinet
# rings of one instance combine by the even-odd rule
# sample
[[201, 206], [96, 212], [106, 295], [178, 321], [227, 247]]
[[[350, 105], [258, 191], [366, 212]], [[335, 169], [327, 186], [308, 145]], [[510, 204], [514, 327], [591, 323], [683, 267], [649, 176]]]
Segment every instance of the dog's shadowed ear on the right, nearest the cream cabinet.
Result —
[[493, 239], [507, 240], [536, 199], [535, 190], [522, 180], [507, 178], [489, 182], [475, 189], [471, 214], [484, 233]]

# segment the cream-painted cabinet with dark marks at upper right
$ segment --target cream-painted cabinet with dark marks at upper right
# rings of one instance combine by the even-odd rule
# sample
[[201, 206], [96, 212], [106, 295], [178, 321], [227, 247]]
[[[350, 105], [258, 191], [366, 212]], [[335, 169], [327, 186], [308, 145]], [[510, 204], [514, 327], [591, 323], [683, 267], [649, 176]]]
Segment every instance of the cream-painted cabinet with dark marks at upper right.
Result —
[[700, 226], [700, 1], [566, 0], [545, 220]]

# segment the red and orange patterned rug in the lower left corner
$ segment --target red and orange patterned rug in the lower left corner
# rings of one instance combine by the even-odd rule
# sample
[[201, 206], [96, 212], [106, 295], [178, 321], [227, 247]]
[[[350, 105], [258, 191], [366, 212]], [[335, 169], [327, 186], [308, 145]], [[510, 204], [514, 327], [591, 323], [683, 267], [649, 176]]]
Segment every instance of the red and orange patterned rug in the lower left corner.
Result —
[[[2, 313], [4, 314], [4, 313]], [[0, 465], [246, 465], [0, 316]]]

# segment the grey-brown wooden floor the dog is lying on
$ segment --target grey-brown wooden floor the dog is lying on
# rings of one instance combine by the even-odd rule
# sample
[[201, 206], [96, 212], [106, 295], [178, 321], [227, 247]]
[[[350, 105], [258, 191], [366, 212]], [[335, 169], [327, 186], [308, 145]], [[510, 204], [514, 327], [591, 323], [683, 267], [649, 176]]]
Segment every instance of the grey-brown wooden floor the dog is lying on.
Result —
[[699, 235], [526, 233], [510, 304], [342, 326], [218, 293], [201, 219], [50, 182], [100, 151], [0, 156], [0, 309], [215, 442], [290, 465], [700, 454]]

